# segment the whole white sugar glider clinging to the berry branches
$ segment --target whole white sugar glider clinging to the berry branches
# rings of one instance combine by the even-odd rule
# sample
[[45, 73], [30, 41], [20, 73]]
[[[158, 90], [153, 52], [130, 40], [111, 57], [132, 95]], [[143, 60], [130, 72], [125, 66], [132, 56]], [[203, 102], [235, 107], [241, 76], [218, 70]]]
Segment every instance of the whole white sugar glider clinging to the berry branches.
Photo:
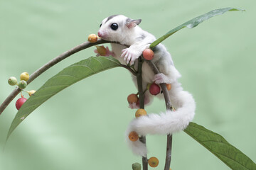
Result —
[[[133, 20], [122, 15], [114, 15], [105, 18], [100, 24], [98, 35], [103, 40], [119, 42], [122, 45], [112, 43], [112, 52], [107, 50], [107, 54], [112, 54], [122, 64], [137, 65], [137, 58], [142, 55], [142, 52], [149, 48], [151, 42], [156, 38], [151, 33], [142, 30], [138, 25], [142, 20]], [[129, 47], [125, 46], [128, 45]], [[139, 135], [147, 134], [173, 134], [185, 129], [188, 123], [193, 120], [196, 110], [196, 103], [193, 96], [188, 91], [183, 91], [181, 84], [177, 79], [181, 74], [174, 67], [174, 62], [171, 55], [166, 50], [164, 45], [159, 44], [153, 49], [154, 59], [151, 60], [158, 67], [160, 74], [154, 74], [146, 62], [142, 64], [142, 86], [146, 89], [147, 84], [155, 81], [156, 84], [166, 83], [171, 84], [169, 96], [171, 103], [176, 108], [176, 111], [166, 111], [166, 113], [151, 113], [139, 118], [134, 118], [127, 128], [126, 137], [129, 147], [132, 148], [134, 154], [142, 156], [146, 155], [146, 145], [140, 140], [132, 142], [129, 140], [129, 132], [135, 131]], [[135, 67], [137, 68], [137, 67]], [[133, 77], [137, 86], [137, 79]], [[158, 96], [163, 96], [159, 94]], [[145, 104], [149, 103], [152, 95], [149, 91], [145, 93]], [[137, 108], [136, 103], [132, 103], [130, 108]]]

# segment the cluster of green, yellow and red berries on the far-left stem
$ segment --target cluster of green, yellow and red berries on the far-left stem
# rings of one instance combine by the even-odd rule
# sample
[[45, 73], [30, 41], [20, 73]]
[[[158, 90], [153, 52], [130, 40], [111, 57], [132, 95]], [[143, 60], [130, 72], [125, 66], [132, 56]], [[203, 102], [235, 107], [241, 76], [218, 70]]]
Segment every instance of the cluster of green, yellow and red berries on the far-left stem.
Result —
[[[10, 77], [8, 79], [8, 84], [10, 84], [11, 86], [18, 86], [19, 89], [21, 89], [21, 91], [25, 91], [24, 89], [26, 88], [26, 86], [28, 85], [26, 81], [28, 81], [29, 79], [29, 74], [28, 72], [23, 72], [20, 75], [20, 79], [21, 81], [17, 81], [16, 77]], [[31, 90], [31, 91], [25, 91], [28, 93], [29, 96], [33, 95], [36, 91], [35, 90]], [[15, 106], [17, 108], [17, 110], [19, 110], [21, 108], [21, 106], [23, 105], [23, 103], [25, 103], [27, 99], [24, 98], [24, 96], [22, 95], [21, 92], [21, 98], [18, 98], [18, 100], [15, 103]]]

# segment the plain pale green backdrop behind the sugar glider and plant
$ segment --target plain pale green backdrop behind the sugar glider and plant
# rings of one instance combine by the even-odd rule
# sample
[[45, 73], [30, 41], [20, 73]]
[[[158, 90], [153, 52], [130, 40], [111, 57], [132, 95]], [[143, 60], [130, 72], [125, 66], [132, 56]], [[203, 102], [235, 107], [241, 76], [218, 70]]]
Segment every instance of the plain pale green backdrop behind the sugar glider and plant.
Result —
[[[156, 38], [215, 8], [243, 8], [216, 16], [193, 29], [184, 28], [164, 41], [193, 94], [193, 122], [223, 135], [254, 162], [255, 135], [255, 1], [0, 1], [0, 103], [14, 90], [11, 76], [33, 73], [60, 53], [97, 33], [103, 18], [122, 13], [141, 18], [140, 26]], [[34, 80], [38, 89], [64, 67], [94, 55], [79, 52]], [[137, 90], [126, 69], [115, 68], [78, 82], [36, 109], [11, 135], [15, 101], [0, 115], [0, 169], [132, 169], [141, 158], [124, 142], [134, 110], [127, 96]], [[28, 97], [27, 94], [25, 94]], [[155, 99], [148, 113], [164, 111]], [[166, 137], [147, 137], [148, 157], [164, 169]], [[4, 151], [3, 151], [4, 149]], [[229, 169], [184, 132], [174, 135], [171, 168]], [[149, 168], [151, 169], [151, 168]]]

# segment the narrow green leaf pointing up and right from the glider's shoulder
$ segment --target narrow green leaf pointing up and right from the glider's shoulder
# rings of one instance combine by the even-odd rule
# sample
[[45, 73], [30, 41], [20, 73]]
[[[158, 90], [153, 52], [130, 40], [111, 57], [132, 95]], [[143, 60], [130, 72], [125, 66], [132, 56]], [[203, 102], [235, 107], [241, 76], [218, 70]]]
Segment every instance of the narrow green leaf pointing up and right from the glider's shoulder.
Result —
[[245, 11], [239, 8], [220, 8], [220, 9], [215, 9], [213, 11], [210, 11], [208, 13], [203, 14], [202, 16], [198, 16], [196, 18], [191, 19], [190, 21], [181, 24], [181, 26], [178, 26], [172, 30], [170, 30], [168, 33], [166, 33], [165, 35], [161, 36], [161, 38], [155, 40], [154, 42], [151, 43], [150, 48], [154, 48], [156, 47], [156, 45], [158, 45], [160, 42], [162, 42], [163, 40], [165, 40], [166, 38], [169, 38], [169, 36], [173, 35], [174, 33], [176, 33], [178, 30], [181, 30], [182, 28], [194, 28], [196, 26], [198, 26], [199, 23], [202, 23], [203, 21], [208, 20], [209, 18], [213, 17], [213, 16], [218, 16], [218, 15], [222, 15], [225, 12], [228, 11]]

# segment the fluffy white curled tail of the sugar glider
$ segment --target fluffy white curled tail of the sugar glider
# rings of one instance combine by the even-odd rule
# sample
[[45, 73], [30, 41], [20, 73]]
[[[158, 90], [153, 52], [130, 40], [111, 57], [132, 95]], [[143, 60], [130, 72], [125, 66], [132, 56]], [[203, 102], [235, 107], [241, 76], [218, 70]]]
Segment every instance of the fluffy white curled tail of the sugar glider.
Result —
[[166, 111], [166, 113], [141, 116], [135, 118], [129, 123], [126, 140], [134, 154], [141, 156], [146, 155], [146, 145], [137, 140], [132, 142], [129, 140], [129, 132], [135, 131], [138, 135], [146, 136], [147, 134], [168, 135], [184, 130], [188, 123], [193, 120], [196, 110], [196, 103], [193, 96], [188, 91], [173, 91], [170, 94], [171, 102], [177, 107], [176, 111]]

